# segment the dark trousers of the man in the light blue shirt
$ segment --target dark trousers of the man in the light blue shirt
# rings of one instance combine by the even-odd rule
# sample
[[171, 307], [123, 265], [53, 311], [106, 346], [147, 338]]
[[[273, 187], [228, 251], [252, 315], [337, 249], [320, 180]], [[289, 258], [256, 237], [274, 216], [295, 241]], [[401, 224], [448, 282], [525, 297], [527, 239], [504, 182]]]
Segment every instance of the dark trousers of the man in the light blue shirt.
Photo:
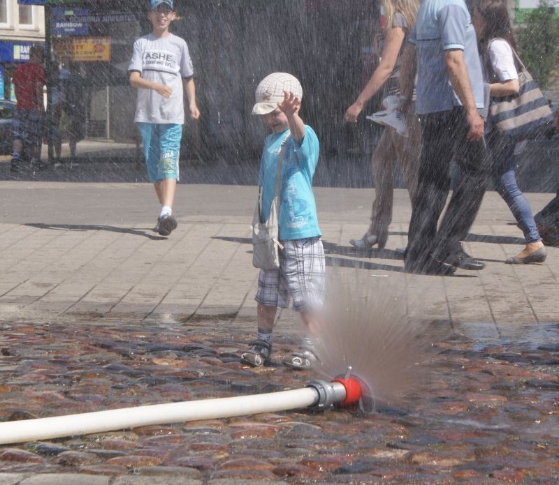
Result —
[[[486, 144], [466, 140], [469, 126], [463, 107], [423, 114], [421, 119], [421, 158], [416, 200], [409, 223], [407, 264], [444, 260], [460, 250], [484, 196], [486, 172], [483, 167]], [[452, 193], [449, 207], [437, 222], [450, 191], [449, 169], [455, 160], [462, 176]]]

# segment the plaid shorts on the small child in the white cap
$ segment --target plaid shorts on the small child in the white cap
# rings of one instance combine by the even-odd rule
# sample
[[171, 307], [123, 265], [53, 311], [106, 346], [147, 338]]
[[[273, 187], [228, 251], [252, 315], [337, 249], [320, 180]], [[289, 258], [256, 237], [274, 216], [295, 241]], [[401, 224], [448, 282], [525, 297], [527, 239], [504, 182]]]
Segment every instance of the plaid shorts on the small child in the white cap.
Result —
[[254, 298], [266, 306], [289, 307], [305, 311], [317, 308], [324, 300], [324, 248], [319, 237], [282, 241], [279, 269], [261, 269]]

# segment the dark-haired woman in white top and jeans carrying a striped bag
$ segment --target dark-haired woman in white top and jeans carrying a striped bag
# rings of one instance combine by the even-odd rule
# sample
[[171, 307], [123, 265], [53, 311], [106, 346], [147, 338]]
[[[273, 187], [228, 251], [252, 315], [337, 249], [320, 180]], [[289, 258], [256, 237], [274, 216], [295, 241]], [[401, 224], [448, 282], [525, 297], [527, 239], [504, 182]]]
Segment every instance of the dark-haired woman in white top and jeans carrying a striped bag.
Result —
[[[489, 83], [491, 99], [518, 93], [518, 69], [514, 58], [516, 42], [512, 34], [507, 6], [502, 0], [477, 0], [472, 23], [479, 38], [479, 52], [484, 66], [485, 81]], [[507, 202], [524, 233], [526, 246], [508, 264], [544, 262], [546, 250], [539, 236], [530, 204], [516, 184], [514, 174], [514, 142], [498, 130], [491, 130], [491, 117], [486, 124], [488, 149], [492, 157], [489, 173], [495, 189]]]

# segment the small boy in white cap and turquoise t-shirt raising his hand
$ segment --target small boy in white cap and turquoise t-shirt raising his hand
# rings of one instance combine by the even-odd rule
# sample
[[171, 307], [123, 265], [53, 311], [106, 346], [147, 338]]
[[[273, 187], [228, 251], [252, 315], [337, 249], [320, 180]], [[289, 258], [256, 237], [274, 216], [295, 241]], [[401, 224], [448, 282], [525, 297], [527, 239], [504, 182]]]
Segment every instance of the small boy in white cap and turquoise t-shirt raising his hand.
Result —
[[[282, 144], [281, 186], [279, 193], [279, 269], [261, 269], [256, 292], [258, 335], [241, 361], [261, 366], [270, 360], [277, 306], [293, 307], [301, 315], [307, 332], [316, 334], [316, 310], [324, 296], [324, 249], [312, 193], [312, 176], [319, 161], [319, 141], [310, 126], [303, 124], [299, 109], [303, 89], [290, 74], [274, 73], [256, 88], [252, 114], [260, 115], [271, 130], [266, 137], [260, 162], [262, 218], [268, 219], [275, 194], [277, 163]], [[310, 341], [299, 352], [283, 359], [290, 368], [311, 368], [316, 357]]]

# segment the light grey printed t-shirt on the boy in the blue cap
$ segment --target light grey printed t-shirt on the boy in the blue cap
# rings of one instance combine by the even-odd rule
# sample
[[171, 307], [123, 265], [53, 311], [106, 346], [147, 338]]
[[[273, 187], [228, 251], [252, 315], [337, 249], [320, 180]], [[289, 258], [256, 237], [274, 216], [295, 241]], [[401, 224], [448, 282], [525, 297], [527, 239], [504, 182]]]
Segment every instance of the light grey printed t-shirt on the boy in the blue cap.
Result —
[[137, 70], [145, 80], [166, 84], [173, 93], [164, 98], [154, 89], [138, 88], [136, 123], [184, 124], [182, 77], [194, 74], [184, 39], [170, 33], [156, 37], [152, 33], [134, 43], [129, 71]]

